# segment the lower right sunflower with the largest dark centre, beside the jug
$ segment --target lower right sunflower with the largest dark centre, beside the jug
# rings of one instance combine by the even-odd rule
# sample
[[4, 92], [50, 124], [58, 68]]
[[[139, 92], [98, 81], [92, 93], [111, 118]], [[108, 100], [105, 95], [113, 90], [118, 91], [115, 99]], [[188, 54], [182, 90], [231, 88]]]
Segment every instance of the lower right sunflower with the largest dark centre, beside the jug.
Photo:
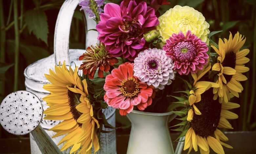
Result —
[[190, 109], [188, 112], [190, 123], [183, 148], [183, 150], [189, 148], [188, 153], [192, 148], [198, 151], [198, 146], [201, 154], [209, 154], [209, 147], [218, 154], [224, 154], [222, 146], [233, 148], [222, 142], [228, 141], [228, 138], [218, 128], [233, 129], [227, 119], [236, 119], [238, 115], [228, 110], [240, 107], [240, 105], [231, 102], [221, 104], [212, 97], [213, 93], [210, 89], [201, 95], [202, 99], [197, 103], [201, 115], [194, 114], [195, 109]]

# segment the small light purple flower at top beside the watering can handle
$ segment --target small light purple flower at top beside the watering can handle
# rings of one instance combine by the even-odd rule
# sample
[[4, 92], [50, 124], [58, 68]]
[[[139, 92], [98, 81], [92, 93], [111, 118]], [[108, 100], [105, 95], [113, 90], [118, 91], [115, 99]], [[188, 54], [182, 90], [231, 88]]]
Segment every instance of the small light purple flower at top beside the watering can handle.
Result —
[[[97, 4], [98, 14], [103, 12], [100, 7], [104, 5], [104, 0], [95, 0], [94, 2]], [[95, 13], [92, 8], [90, 8], [90, 0], [80, 0], [79, 6], [81, 7], [80, 10], [85, 10], [85, 12], [89, 14], [89, 18], [95, 18]]]

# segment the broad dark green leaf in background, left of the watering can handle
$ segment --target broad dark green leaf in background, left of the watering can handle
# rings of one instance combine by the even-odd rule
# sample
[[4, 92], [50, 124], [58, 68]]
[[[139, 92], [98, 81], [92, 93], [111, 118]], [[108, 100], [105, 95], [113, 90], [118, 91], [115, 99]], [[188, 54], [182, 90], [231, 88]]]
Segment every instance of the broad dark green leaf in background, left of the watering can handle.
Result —
[[47, 16], [42, 10], [29, 10], [24, 14], [24, 21], [27, 24], [29, 33], [33, 32], [37, 39], [47, 43], [49, 33]]

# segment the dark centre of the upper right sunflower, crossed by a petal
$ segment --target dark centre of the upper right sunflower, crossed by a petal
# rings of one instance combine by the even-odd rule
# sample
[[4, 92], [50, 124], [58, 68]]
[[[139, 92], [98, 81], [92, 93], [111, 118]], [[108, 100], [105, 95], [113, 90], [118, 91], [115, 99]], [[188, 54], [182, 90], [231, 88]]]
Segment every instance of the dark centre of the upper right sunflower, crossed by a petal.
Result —
[[[235, 69], [235, 66], [236, 66], [236, 54], [234, 52], [228, 52], [226, 53], [225, 55], [225, 59], [224, 61], [222, 62], [222, 66], [223, 67], [231, 67], [231, 68], [234, 68]], [[232, 78], [232, 75], [226, 75], [226, 74], [223, 74], [227, 83], [231, 80]]]

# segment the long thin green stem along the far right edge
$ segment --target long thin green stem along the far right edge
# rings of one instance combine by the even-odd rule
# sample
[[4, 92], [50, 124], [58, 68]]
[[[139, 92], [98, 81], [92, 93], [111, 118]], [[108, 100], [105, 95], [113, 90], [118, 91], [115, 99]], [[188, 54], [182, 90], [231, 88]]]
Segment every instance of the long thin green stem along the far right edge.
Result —
[[[254, 17], [256, 16], [256, 8], [254, 7]], [[254, 36], [253, 36], [253, 58], [251, 60], [252, 62], [252, 84], [251, 84], [251, 101], [250, 101], [250, 106], [249, 106], [249, 112], [248, 112], [248, 117], [247, 117], [247, 124], [250, 123], [251, 121], [251, 113], [253, 109], [253, 104], [254, 104], [254, 97], [255, 97], [255, 81], [256, 81], [256, 19], [254, 18]]]

